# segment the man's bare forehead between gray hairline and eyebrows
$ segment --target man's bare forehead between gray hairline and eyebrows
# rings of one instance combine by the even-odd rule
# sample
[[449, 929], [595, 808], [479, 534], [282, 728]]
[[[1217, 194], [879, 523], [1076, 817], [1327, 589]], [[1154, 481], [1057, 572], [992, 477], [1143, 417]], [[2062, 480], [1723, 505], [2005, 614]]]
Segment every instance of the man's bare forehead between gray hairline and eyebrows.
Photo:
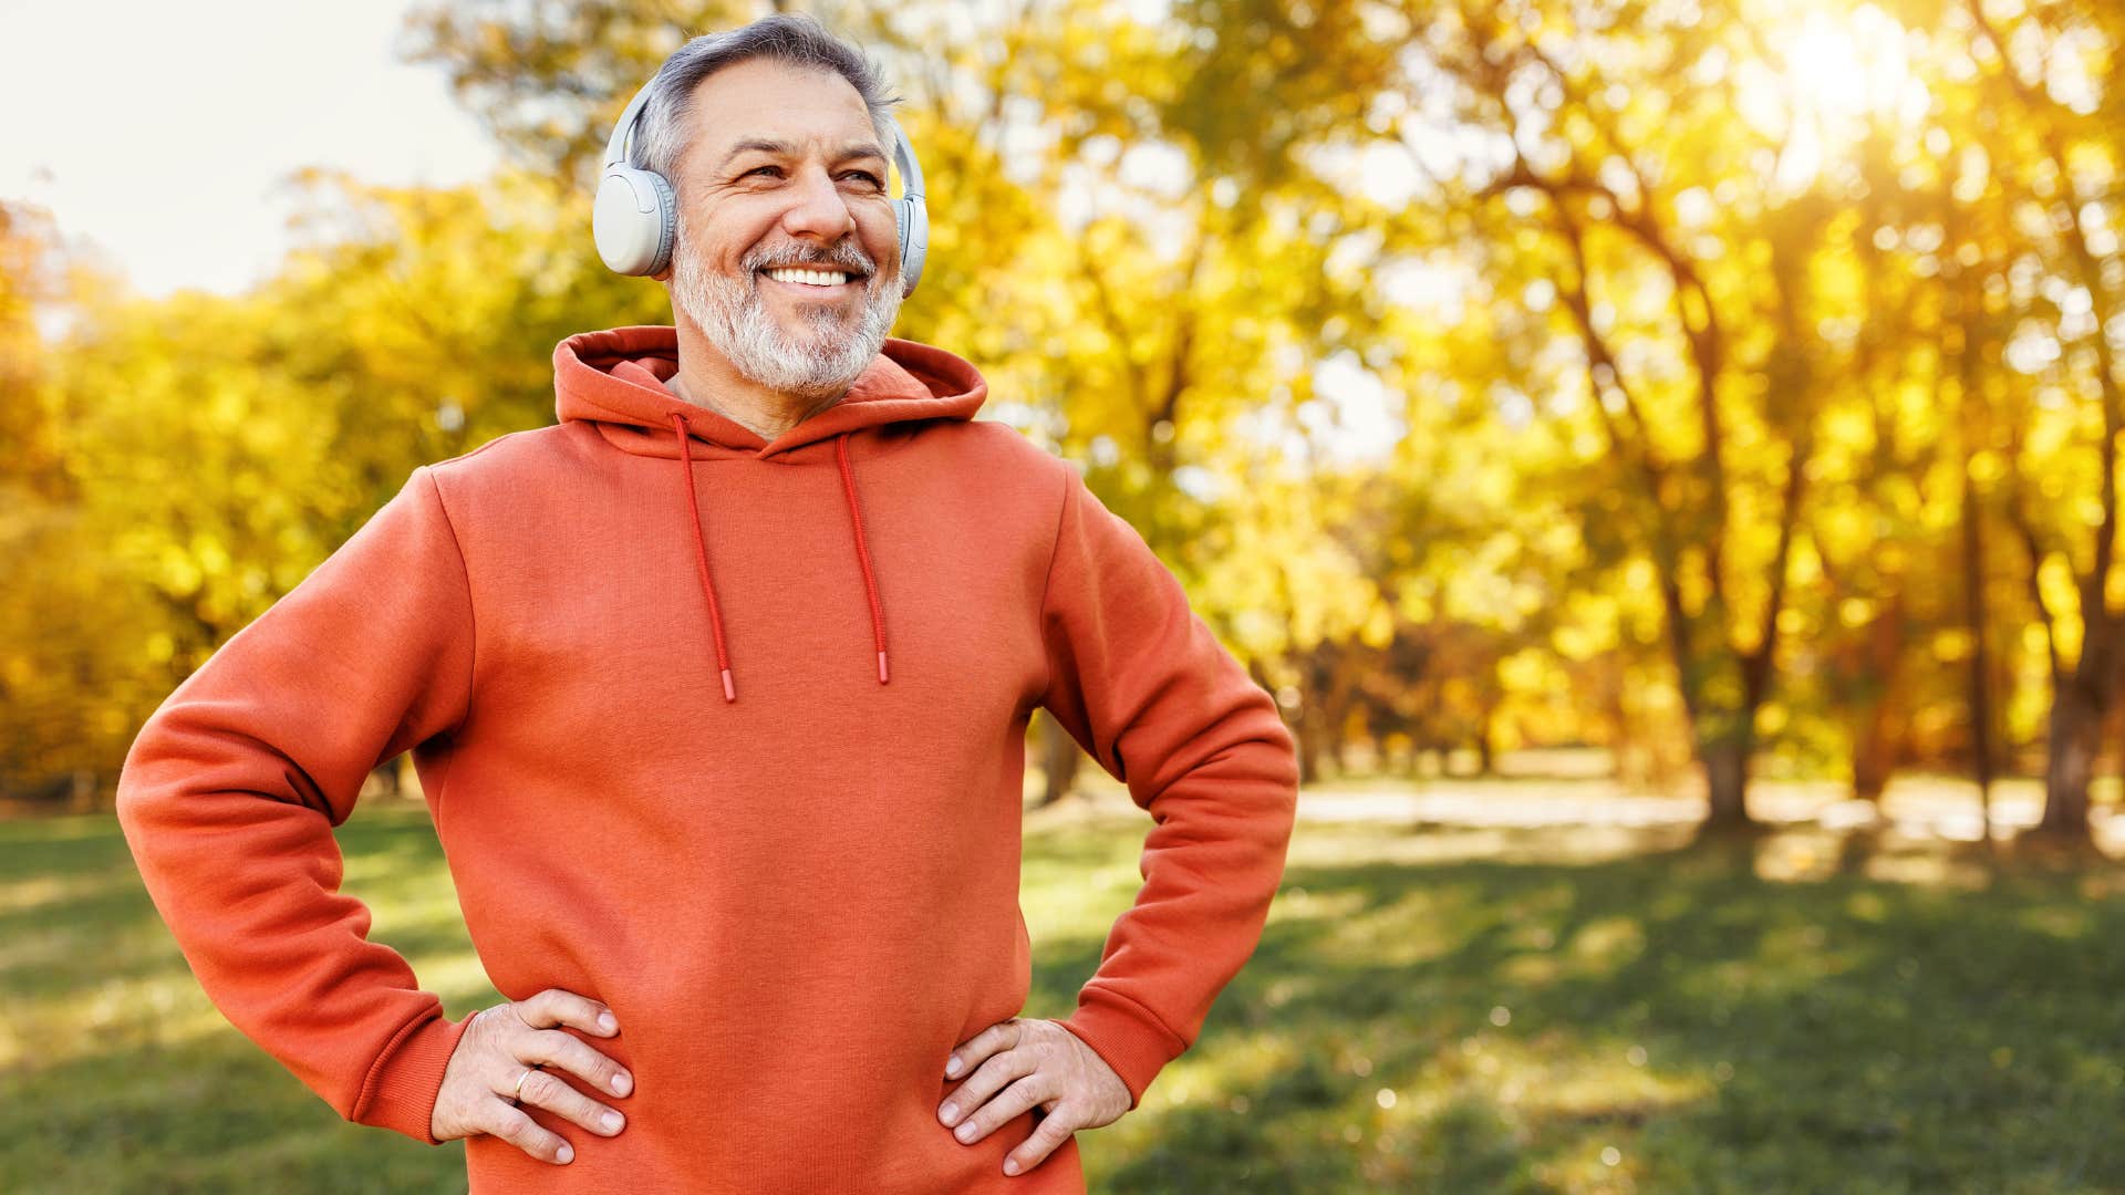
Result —
[[833, 70], [752, 57], [703, 79], [688, 108], [688, 157], [712, 166], [740, 140], [793, 140], [801, 149], [878, 145], [871, 111], [854, 83]]

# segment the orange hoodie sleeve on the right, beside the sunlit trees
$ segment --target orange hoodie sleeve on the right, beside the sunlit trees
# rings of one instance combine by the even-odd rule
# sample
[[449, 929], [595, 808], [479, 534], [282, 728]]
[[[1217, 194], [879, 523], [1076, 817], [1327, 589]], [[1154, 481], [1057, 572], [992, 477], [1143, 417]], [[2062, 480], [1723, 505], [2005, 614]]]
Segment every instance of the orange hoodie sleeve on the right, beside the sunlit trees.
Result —
[[1284, 878], [1298, 759], [1275, 702], [1179, 580], [1065, 470], [1041, 602], [1050, 714], [1156, 823], [1137, 902], [1062, 1027], [1128, 1087], [1179, 1057], [1260, 942]]

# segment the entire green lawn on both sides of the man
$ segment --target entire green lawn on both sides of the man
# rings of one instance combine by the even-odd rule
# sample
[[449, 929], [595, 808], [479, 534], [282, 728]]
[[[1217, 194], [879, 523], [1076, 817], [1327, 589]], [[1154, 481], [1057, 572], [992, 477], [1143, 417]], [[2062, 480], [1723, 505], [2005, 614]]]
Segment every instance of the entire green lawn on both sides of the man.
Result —
[[[1124, 810], [1133, 812], [1133, 810]], [[1028, 821], [1028, 1016], [1060, 1016], [1150, 819]], [[1254, 961], [1094, 1191], [2125, 1189], [2125, 878], [1821, 834], [1300, 823]], [[499, 997], [421, 806], [346, 889], [453, 1016]], [[0, 1189], [463, 1191], [206, 1002], [108, 817], [0, 825]]]

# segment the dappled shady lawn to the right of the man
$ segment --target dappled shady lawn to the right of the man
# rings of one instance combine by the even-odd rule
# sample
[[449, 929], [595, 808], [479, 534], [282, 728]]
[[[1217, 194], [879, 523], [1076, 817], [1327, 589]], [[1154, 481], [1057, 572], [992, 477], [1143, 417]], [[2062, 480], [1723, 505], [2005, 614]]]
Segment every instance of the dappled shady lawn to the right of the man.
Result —
[[[1150, 1114], [1084, 1140], [1101, 1189], [2125, 1189], [2125, 899], [2085, 872], [1766, 880], [1776, 834], [1409, 868], [1362, 861], [1394, 829], [1300, 834], [1354, 861], [1294, 859]], [[1062, 950], [1058, 987], [1099, 944]]]

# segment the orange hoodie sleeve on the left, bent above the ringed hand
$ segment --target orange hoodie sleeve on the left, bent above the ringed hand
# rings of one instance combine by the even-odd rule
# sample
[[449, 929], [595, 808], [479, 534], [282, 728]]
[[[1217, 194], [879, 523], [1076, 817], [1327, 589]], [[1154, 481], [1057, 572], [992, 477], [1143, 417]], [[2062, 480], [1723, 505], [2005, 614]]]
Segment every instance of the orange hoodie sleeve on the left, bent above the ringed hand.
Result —
[[465, 1021], [368, 940], [334, 827], [472, 695], [472, 598], [427, 466], [149, 717], [117, 814], [200, 987], [346, 1121], [429, 1133]]

